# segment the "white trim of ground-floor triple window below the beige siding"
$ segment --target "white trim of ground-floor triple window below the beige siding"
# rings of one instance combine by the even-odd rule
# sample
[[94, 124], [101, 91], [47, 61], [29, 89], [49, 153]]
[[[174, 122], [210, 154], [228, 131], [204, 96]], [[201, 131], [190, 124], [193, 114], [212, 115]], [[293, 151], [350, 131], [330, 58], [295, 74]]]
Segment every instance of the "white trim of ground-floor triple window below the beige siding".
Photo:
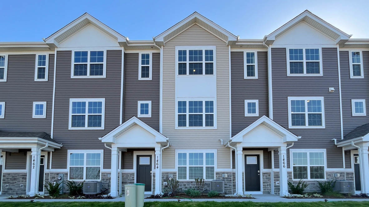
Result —
[[[206, 153], [214, 153], [214, 179], [217, 174], [217, 150], [216, 149], [196, 149], [196, 150], [185, 150], [185, 149], [179, 149], [175, 150], [175, 167], [176, 167], [176, 173], [178, 175], [178, 153], [186, 153], [187, 154], [187, 161], [186, 161], [186, 176], [187, 179], [177, 179], [179, 181], [194, 181], [194, 179], [189, 179], [189, 153], [203, 153], [203, 175], [205, 181], [212, 181], [213, 179], [206, 179], [206, 167], [213, 167], [213, 165], [206, 165]], [[201, 165], [191, 165], [191, 167], [201, 167]], [[179, 167], [184, 167], [184, 165], [180, 165]]]

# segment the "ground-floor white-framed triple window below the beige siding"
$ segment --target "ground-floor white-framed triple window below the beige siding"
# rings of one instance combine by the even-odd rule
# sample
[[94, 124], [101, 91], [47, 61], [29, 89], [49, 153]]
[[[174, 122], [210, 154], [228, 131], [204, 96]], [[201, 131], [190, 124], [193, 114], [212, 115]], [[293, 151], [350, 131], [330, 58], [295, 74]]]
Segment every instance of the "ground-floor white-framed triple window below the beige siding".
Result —
[[216, 150], [176, 150], [177, 179], [215, 179]]

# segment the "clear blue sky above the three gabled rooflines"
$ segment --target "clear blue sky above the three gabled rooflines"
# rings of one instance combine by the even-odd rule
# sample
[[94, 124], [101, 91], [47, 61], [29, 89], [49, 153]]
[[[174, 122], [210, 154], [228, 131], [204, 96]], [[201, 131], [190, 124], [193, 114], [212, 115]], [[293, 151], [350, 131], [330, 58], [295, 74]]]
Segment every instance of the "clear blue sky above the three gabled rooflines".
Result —
[[368, 8], [369, 0], [12, 0], [0, 4], [0, 42], [42, 41], [85, 12], [131, 40], [151, 40], [194, 11], [242, 39], [262, 39], [306, 9], [352, 38], [369, 38]]

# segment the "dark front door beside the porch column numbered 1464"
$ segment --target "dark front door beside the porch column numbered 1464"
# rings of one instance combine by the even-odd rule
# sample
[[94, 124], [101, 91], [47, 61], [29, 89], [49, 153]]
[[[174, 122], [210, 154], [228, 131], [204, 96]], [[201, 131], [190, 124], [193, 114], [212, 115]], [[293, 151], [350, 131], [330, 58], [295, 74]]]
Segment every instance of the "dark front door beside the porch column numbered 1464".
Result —
[[151, 171], [152, 161], [151, 155], [138, 155], [137, 156], [137, 183], [145, 184], [145, 192], [151, 192]]

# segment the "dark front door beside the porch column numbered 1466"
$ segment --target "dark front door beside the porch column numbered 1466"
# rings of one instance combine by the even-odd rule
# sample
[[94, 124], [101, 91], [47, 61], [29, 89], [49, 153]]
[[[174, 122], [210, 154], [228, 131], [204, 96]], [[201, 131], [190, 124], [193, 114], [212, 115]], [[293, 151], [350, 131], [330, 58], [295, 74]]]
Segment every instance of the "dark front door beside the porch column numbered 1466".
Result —
[[258, 154], [245, 155], [246, 191], [260, 191], [260, 159]]

